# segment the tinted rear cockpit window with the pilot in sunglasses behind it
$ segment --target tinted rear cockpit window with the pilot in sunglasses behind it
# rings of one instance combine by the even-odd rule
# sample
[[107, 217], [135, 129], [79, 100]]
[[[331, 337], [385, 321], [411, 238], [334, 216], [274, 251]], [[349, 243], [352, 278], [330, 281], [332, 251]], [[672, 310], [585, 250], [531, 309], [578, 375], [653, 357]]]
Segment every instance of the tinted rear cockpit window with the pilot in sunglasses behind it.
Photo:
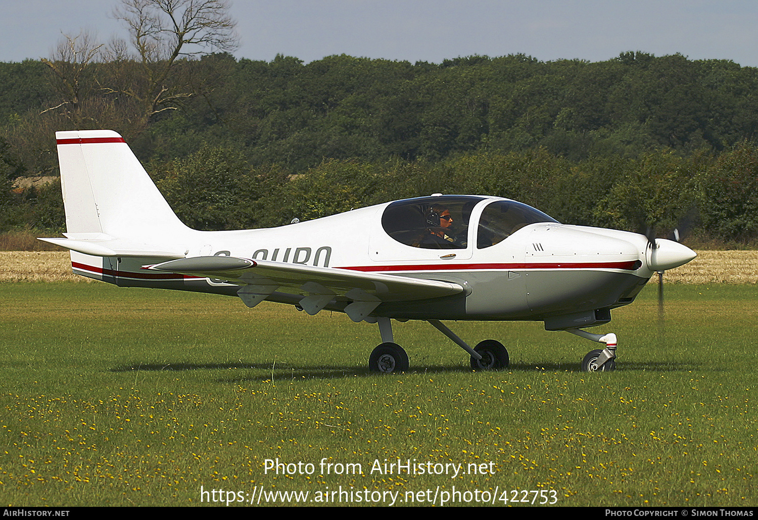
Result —
[[435, 196], [393, 202], [381, 218], [384, 231], [399, 243], [425, 249], [465, 249], [471, 210], [482, 199]]

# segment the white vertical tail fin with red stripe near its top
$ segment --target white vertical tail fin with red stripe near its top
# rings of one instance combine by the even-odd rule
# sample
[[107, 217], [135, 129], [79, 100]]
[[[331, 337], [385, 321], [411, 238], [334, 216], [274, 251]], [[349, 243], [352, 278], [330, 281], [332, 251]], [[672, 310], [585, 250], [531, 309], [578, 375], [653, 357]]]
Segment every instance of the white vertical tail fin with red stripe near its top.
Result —
[[74, 130], [55, 137], [67, 236], [105, 233], [151, 242], [191, 232], [119, 134]]

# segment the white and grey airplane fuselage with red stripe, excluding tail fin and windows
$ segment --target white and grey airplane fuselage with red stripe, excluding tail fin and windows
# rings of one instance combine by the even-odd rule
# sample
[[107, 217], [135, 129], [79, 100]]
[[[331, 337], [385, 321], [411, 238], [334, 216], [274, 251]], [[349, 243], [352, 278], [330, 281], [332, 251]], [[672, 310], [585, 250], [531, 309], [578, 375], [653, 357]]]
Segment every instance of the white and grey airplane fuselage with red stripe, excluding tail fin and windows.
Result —
[[[391, 318], [527, 319], [626, 305], [652, 276], [646, 237], [617, 230], [529, 224], [493, 246], [478, 249], [478, 218], [498, 201], [482, 197], [471, 211], [468, 240], [460, 249], [423, 249], [393, 240], [381, 224], [386, 204], [283, 227], [240, 231], [185, 228], [161, 240], [166, 249], [194, 256], [227, 255], [316, 267], [445, 280], [465, 287], [447, 301], [384, 304]], [[154, 258], [98, 258], [72, 252], [75, 271], [121, 286], [166, 287], [233, 293], [225, 280], [146, 273]], [[102, 265], [101, 265], [102, 262]], [[230, 287], [230, 290], [225, 290]], [[269, 299], [296, 303], [299, 295]], [[339, 302], [335, 302], [337, 310]]]

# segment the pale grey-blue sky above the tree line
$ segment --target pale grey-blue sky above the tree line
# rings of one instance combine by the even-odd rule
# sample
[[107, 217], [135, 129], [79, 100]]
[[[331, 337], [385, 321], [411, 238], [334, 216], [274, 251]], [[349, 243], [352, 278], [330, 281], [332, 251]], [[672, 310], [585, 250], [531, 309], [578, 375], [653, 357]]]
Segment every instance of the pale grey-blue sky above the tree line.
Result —
[[[127, 33], [118, 0], [0, 0], [0, 61], [47, 57], [61, 33]], [[430, 61], [522, 53], [605, 61], [625, 51], [758, 67], [756, 0], [235, 0], [237, 58], [347, 54]]]

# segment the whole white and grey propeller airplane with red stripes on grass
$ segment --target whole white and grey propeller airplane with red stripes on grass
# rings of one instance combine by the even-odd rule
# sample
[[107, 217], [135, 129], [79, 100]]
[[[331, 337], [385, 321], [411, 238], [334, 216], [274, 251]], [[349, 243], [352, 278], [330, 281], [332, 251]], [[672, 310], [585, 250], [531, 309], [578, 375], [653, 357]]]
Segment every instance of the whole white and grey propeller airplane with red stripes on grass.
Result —
[[127, 143], [111, 130], [56, 133], [74, 273], [120, 287], [238, 296], [249, 307], [287, 303], [309, 315], [344, 312], [377, 323], [371, 371], [406, 371], [391, 320], [428, 321], [471, 355], [475, 370], [505, 368], [502, 343], [475, 348], [441, 320], [544, 321], [603, 343], [584, 371], [615, 368], [615, 334], [591, 334], [634, 301], [659, 271], [695, 252], [672, 240], [559, 224], [491, 196], [399, 200], [283, 227], [186, 227]]

